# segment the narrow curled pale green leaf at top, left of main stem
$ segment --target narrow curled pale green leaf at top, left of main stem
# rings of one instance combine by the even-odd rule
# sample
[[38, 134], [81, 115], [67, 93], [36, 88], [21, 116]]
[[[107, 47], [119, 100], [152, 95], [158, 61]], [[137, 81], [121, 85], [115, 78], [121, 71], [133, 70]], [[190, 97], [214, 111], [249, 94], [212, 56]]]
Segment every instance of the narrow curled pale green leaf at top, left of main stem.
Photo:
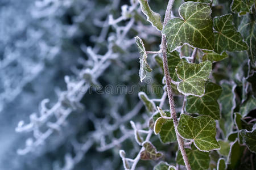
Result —
[[147, 0], [139, 0], [139, 3], [141, 4], [143, 14], [147, 16], [147, 21], [150, 22], [153, 27], [162, 31], [163, 24], [161, 22], [161, 15], [151, 10]]

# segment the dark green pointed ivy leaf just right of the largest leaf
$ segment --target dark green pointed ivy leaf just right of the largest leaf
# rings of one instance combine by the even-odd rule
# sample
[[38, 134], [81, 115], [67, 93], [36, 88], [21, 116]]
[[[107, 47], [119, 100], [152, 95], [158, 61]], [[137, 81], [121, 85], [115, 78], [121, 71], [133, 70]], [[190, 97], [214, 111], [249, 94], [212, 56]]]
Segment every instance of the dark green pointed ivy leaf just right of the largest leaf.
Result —
[[222, 15], [213, 19], [215, 47], [214, 52], [236, 52], [247, 50], [248, 45], [233, 25], [232, 14]]

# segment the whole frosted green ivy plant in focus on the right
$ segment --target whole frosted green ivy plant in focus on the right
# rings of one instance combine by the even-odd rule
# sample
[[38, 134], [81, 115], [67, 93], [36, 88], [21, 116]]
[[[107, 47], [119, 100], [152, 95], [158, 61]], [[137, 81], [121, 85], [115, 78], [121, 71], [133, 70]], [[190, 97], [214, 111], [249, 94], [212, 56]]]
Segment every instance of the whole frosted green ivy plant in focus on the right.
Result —
[[141, 160], [158, 170], [255, 168], [255, 1], [170, 0], [164, 15], [138, 2], [143, 24], [160, 32], [154, 43], [135, 37], [139, 77], [163, 92], [139, 92], [148, 126], [134, 128], [141, 151], [122, 156], [125, 169]]

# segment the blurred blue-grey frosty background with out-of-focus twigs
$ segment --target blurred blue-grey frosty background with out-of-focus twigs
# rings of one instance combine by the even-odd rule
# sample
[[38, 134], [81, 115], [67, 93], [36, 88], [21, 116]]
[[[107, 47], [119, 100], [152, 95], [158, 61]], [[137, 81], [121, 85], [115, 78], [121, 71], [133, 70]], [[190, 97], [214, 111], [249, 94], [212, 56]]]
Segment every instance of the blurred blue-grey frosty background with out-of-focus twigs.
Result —
[[0, 169], [123, 169], [119, 149], [138, 154], [139, 90], [88, 87], [138, 84], [134, 36], [160, 43], [145, 23], [137, 1], [0, 0]]

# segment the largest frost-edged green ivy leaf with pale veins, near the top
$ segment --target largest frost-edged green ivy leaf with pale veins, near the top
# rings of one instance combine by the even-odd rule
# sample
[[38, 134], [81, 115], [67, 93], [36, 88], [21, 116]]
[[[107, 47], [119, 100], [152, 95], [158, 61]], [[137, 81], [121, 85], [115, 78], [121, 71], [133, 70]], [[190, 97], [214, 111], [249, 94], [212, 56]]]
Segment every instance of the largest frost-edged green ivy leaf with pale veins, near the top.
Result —
[[173, 52], [187, 43], [196, 48], [214, 49], [214, 35], [210, 7], [200, 2], [185, 2], [179, 8], [181, 18], [172, 18], [163, 28], [167, 48]]

